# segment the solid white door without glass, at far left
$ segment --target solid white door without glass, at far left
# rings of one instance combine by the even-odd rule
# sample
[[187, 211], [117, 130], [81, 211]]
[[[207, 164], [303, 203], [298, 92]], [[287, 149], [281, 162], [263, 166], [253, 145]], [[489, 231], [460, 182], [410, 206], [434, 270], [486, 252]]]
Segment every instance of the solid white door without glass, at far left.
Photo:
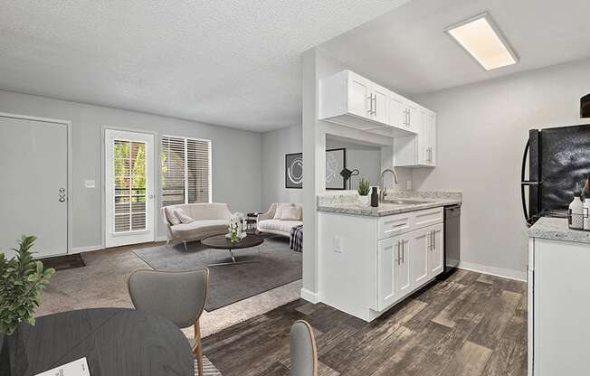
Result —
[[68, 124], [0, 114], [0, 252], [37, 237], [35, 258], [68, 252]]

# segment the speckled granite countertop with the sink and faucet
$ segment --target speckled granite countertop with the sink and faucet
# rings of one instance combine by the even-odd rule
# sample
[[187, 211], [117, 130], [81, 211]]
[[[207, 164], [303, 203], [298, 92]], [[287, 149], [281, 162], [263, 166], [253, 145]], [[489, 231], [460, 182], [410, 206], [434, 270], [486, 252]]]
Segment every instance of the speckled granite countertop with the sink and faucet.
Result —
[[408, 211], [420, 211], [446, 205], [462, 203], [462, 193], [431, 193], [431, 192], [404, 192], [389, 193], [387, 200], [415, 200], [422, 201], [418, 204], [399, 204], [379, 202], [379, 206], [373, 208], [358, 201], [356, 194], [318, 196], [317, 210], [338, 212], [348, 215], [362, 215], [368, 217], [384, 217]]

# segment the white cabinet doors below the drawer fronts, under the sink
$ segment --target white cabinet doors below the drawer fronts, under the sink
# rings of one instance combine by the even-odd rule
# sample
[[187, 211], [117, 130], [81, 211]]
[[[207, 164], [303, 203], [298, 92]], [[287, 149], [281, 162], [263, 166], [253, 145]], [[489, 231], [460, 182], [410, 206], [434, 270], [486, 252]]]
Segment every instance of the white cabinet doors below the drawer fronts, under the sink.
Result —
[[379, 240], [377, 307], [385, 310], [442, 272], [442, 223]]

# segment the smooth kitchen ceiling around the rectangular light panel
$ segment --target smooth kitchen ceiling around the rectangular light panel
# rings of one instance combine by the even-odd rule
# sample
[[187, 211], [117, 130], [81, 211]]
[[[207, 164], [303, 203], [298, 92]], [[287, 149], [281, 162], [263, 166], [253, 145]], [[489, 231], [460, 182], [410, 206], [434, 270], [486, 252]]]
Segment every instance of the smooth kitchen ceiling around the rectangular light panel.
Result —
[[[489, 11], [519, 55], [483, 71], [442, 32]], [[413, 0], [320, 46], [351, 69], [412, 95], [590, 56], [588, 0]]]

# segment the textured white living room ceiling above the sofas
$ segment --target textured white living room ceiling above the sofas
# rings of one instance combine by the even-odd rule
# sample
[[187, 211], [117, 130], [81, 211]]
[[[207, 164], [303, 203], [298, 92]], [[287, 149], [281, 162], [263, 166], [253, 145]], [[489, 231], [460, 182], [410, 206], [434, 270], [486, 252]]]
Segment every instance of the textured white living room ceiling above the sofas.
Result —
[[407, 0], [0, 0], [0, 89], [264, 131], [300, 54]]

